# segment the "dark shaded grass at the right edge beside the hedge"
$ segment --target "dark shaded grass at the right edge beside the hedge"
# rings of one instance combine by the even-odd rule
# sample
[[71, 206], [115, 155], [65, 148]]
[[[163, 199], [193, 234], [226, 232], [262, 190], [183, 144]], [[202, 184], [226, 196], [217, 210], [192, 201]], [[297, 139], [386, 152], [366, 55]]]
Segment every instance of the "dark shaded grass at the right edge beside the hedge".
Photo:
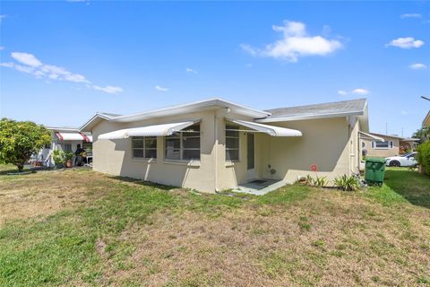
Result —
[[409, 203], [430, 208], [430, 177], [416, 170], [391, 168], [385, 171], [384, 183]]

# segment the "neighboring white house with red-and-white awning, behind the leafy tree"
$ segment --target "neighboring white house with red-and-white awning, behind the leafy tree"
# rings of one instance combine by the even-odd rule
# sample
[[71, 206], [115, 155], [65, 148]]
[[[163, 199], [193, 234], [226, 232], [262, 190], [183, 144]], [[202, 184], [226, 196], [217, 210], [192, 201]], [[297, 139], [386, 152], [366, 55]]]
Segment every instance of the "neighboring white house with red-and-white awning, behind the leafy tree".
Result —
[[56, 150], [74, 152], [78, 144], [84, 149], [91, 149], [92, 136], [90, 133], [81, 133], [78, 127], [47, 126], [47, 129], [51, 132], [52, 142], [44, 146], [33, 159], [37, 165], [53, 167], [55, 162], [52, 155]]

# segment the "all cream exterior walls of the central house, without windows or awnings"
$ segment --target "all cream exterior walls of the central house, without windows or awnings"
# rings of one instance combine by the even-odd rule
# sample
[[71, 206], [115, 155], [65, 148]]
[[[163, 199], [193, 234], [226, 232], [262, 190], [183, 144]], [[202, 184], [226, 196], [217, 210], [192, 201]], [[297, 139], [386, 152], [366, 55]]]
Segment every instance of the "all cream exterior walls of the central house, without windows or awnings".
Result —
[[[176, 117], [162, 117], [133, 123], [102, 121], [92, 130], [93, 170], [115, 176], [140, 178], [165, 185], [189, 187], [213, 193], [235, 188], [247, 181], [246, 132], [239, 132], [239, 161], [226, 162], [225, 109], [207, 110]], [[157, 159], [137, 160], [132, 157], [132, 140], [98, 140], [100, 134], [117, 129], [150, 126], [202, 118], [201, 161], [168, 161], [164, 157], [164, 137], [157, 138]], [[275, 124], [274, 124], [275, 125]], [[255, 133], [255, 178], [275, 178], [293, 183], [310, 174], [311, 165], [318, 176], [333, 179], [357, 172], [359, 165], [358, 122], [346, 117], [276, 123], [300, 130], [302, 137], [274, 137]], [[239, 127], [242, 130], [249, 128]], [[271, 169], [276, 173], [271, 175]]]

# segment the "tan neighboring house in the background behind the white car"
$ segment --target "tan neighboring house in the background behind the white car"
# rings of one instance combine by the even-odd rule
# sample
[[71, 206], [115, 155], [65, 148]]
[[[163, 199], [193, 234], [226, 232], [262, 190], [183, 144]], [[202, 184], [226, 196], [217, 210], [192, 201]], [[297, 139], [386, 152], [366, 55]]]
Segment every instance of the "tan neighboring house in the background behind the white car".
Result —
[[366, 157], [381, 157], [386, 158], [390, 156], [405, 153], [408, 150], [415, 150], [419, 139], [416, 138], [403, 138], [397, 135], [382, 135], [371, 133], [374, 138], [363, 137], [361, 139], [362, 151], [366, 151]]

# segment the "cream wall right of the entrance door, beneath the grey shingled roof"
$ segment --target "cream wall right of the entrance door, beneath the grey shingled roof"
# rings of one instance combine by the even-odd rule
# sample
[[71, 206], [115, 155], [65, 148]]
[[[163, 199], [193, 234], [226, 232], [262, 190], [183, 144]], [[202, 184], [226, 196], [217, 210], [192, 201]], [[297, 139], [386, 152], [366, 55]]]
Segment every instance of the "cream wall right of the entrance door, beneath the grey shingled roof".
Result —
[[[357, 172], [356, 157], [357, 122], [352, 128], [345, 117], [302, 120], [279, 123], [279, 126], [300, 130], [302, 137], [264, 136], [263, 145], [269, 155], [262, 159], [263, 177], [282, 179], [293, 183], [306, 175], [326, 176], [332, 180], [343, 174]], [[317, 172], [311, 171], [311, 165]], [[276, 173], [271, 176], [270, 168]]]

